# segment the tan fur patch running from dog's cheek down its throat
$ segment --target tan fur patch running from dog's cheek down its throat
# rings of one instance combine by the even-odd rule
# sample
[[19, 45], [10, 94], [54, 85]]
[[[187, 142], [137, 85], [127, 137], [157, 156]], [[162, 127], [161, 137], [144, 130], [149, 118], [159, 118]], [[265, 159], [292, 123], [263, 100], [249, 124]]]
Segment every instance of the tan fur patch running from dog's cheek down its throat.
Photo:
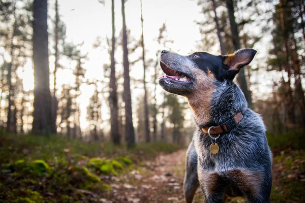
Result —
[[186, 95], [189, 105], [193, 111], [196, 122], [206, 122], [210, 115], [210, 101], [215, 90], [214, 75], [208, 70], [208, 74], [201, 70], [194, 70], [197, 88], [191, 94]]

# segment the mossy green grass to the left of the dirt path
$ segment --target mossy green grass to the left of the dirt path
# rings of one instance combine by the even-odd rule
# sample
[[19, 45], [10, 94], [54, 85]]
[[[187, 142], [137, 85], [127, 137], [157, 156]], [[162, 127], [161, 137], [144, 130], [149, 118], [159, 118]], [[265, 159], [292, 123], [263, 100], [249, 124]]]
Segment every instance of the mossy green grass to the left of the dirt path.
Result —
[[84, 143], [65, 136], [0, 134], [0, 202], [98, 201], [111, 190], [111, 180], [103, 177], [124, 174], [180, 148], [137, 143], [129, 150], [125, 144]]

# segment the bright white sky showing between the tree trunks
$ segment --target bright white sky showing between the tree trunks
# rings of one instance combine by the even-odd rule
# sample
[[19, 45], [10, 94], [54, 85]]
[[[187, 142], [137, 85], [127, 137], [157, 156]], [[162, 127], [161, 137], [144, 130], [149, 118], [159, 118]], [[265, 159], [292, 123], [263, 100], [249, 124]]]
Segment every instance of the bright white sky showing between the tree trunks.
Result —
[[[50, 2], [49, 4], [52, 4]], [[104, 63], [109, 63], [109, 55], [107, 47], [104, 43], [101, 48], [93, 49], [97, 37], [102, 40], [111, 38], [111, 1], [106, 0], [105, 5], [102, 5], [98, 0], [84, 1], [82, 0], [62, 0], [58, 1], [59, 12], [67, 25], [67, 39], [74, 43], [82, 43], [83, 53], [88, 53], [88, 60], [85, 62], [84, 67], [87, 69], [86, 78], [89, 79], [102, 79]], [[181, 54], [189, 54], [194, 50], [196, 41], [200, 40], [199, 28], [197, 27], [194, 19], [202, 17], [200, 15], [200, 8], [195, 1], [182, 0], [182, 1], [156, 1], [156, 0], [143, 0], [143, 19], [144, 19], [144, 40], [146, 48], [146, 58], [156, 58], [156, 51], [162, 49], [158, 47], [156, 38], [159, 35], [159, 28], [166, 22], [168, 36], [170, 40], [174, 41], [171, 47], [173, 51], [178, 51]], [[131, 30], [132, 38], [138, 40], [141, 35], [141, 21], [140, 21], [140, 1], [129, 0], [125, 4], [126, 8], [126, 21], [127, 27]], [[50, 10], [50, 15], [53, 16], [53, 11]], [[116, 36], [119, 36], [121, 30], [121, 1], [115, 1], [115, 29]], [[121, 70], [121, 49], [117, 49], [116, 53], [116, 69]], [[130, 57], [131, 60], [132, 57]], [[52, 60], [52, 59], [51, 59]], [[53, 69], [51, 63], [50, 69]], [[149, 69], [149, 67], [148, 67]], [[153, 67], [148, 70], [147, 81], [149, 80], [149, 73], [153, 74]], [[66, 74], [58, 74], [62, 79], [58, 78], [58, 87], [60, 81], [67, 81]], [[138, 62], [131, 68], [130, 73], [132, 78], [142, 79], [143, 70], [142, 63]], [[71, 76], [72, 78], [72, 76]], [[88, 98], [93, 93], [93, 88], [83, 88], [83, 95], [79, 99], [81, 101], [81, 126], [84, 128], [87, 125], [85, 119], [85, 108], [88, 105]], [[137, 96], [142, 93], [142, 88], [132, 88], [134, 101], [133, 112], [136, 112]], [[159, 91], [162, 91], [159, 89]], [[160, 100], [162, 102], [162, 99]], [[108, 108], [103, 108], [104, 119], [108, 118]]]

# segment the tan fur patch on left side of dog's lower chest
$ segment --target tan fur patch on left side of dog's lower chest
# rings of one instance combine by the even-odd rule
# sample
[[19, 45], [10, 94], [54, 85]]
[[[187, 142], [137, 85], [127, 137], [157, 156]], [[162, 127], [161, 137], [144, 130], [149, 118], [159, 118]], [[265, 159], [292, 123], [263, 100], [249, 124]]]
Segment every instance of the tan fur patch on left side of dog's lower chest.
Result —
[[207, 195], [214, 194], [214, 191], [218, 186], [218, 178], [219, 175], [215, 172], [198, 171], [199, 182], [203, 184], [203, 189]]

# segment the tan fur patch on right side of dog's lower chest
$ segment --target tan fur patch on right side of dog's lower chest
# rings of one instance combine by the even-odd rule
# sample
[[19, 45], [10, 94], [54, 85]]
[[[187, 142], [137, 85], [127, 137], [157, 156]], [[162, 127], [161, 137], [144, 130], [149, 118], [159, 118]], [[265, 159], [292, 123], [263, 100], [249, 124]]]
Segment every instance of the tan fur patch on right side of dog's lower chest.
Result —
[[253, 196], [259, 196], [263, 177], [258, 172], [233, 170], [227, 173], [239, 185], [241, 190], [250, 192]]

